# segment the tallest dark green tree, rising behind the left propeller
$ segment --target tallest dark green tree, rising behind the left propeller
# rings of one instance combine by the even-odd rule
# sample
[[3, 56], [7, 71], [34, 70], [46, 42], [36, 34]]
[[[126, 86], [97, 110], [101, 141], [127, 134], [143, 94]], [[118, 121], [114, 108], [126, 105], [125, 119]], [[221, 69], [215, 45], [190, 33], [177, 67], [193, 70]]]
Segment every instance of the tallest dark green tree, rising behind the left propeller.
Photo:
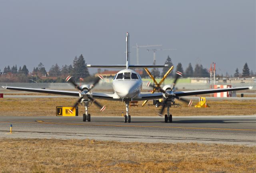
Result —
[[79, 58], [74, 58], [72, 74], [77, 80], [79, 78], [86, 78], [90, 76], [82, 54], [79, 56]]

